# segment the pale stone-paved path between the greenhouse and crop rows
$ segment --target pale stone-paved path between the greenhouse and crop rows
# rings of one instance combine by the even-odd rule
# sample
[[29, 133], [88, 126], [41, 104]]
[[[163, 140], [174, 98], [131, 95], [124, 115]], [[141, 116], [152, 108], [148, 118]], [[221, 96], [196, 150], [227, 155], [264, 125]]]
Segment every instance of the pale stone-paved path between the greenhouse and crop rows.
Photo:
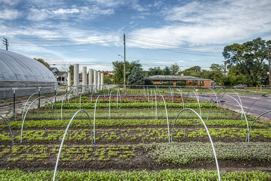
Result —
[[[55, 97], [48, 97], [48, 98], [53, 102], [53, 100], [54, 100]], [[60, 96], [56, 97], [56, 101], [62, 101], [62, 99], [63, 99], [63, 95], [60, 95]], [[20, 103], [16, 103], [15, 102], [15, 113], [22, 113], [24, 106], [25, 106], [24, 112], [26, 112], [28, 106], [30, 106], [30, 104], [32, 103], [33, 100], [35, 100], [35, 99], [29, 100], [27, 102], [26, 106], [25, 106], [26, 101], [20, 102]], [[47, 99], [45, 99], [45, 98], [40, 98], [40, 106], [41, 107], [45, 106], [45, 104], [47, 104], [46, 100]], [[48, 100], [48, 103], [50, 104], [51, 102]], [[31, 105], [31, 108], [38, 108], [38, 104], [39, 104], [39, 100], [36, 100]], [[13, 109], [13, 105], [10, 105], [10, 106]], [[3, 117], [9, 117], [9, 116], [13, 116], [13, 112], [11, 111], [11, 109], [10, 109], [10, 107], [8, 105], [7, 106], [1, 106], [0, 107], [0, 115], [3, 116]], [[16, 119], [17, 120], [21, 120], [21, 119], [18, 119], [18, 118], [16, 118]]]

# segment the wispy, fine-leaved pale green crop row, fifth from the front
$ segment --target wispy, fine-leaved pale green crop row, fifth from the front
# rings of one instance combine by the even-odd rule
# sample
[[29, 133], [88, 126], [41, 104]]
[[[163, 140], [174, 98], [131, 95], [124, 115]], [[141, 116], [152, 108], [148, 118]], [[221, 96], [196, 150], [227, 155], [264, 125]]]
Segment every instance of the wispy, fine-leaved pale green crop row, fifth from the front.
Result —
[[[159, 118], [176, 118], [177, 114], [179, 113], [181, 109], [172, 111], [168, 110], [168, 113], [163, 110], [159, 110]], [[216, 111], [217, 109], [213, 109], [210, 111], [209, 114], [209, 119], [241, 119], [241, 115], [239, 114], [237, 116], [237, 113], [234, 113], [232, 111]], [[221, 109], [220, 109], [221, 110]], [[73, 115], [76, 113], [78, 110], [62, 110], [62, 118], [63, 119], [69, 119], [73, 117]], [[94, 117], [94, 110], [86, 110], [87, 113], [91, 118]], [[197, 111], [197, 110], [196, 110]], [[201, 117], [202, 118], [207, 118], [208, 116], [208, 111], [207, 109], [201, 111]], [[199, 111], [197, 111], [199, 112]], [[123, 119], [123, 118], [155, 118], [156, 113], [155, 113], [155, 108], [154, 109], [111, 109], [111, 119]], [[27, 113], [26, 115], [26, 120], [29, 119], [55, 119], [57, 117], [57, 113], [55, 110], [53, 111], [42, 111], [42, 112], [33, 112], [33, 113]], [[106, 118], [107, 117], [107, 111], [106, 110], [96, 110], [95, 118]], [[75, 116], [76, 119], [86, 119], [87, 115], [84, 112], [80, 112], [76, 114]], [[185, 118], [185, 119], [191, 119], [191, 118], [198, 118], [198, 116], [195, 113], [191, 113], [191, 111], [183, 111], [178, 118]], [[249, 119], [249, 118], [248, 118]]]

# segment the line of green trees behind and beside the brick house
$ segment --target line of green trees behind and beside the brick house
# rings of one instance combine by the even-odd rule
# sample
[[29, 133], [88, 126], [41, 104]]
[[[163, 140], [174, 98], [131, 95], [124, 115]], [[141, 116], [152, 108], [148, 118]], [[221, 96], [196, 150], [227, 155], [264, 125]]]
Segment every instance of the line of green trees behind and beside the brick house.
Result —
[[[179, 65], [175, 63], [165, 68], [154, 67], [149, 68], [148, 71], [143, 71], [139, 60], [132, 62], [126, 61], [126, 71], [130, 71], [128, 75], [126, 74], [126, 82], [127, 84], [132, 83], [131, 80], [129, 81], [129, 77], [133, 77], [133, 79], [140, 77], [142, 79], [141, 81], [135, 80], [134, 82], [141, 82], [142, 85], [148, 85], [151, 84], [150, 81], [144, 81], [142, 77], [183, 74], [186, 76], [211, 79], [222, 86], [231, 87], [236, 84], [244, 83], [250, 87], [256, 87], [256, 85], [269, 87], [269, 75], [267, 74], [269, 67], [266, 63], [266, 61], [268, 61], [268, 46], [271, 48], [271, 40], [266, 41], [260, 37], [243, 44], [233, 43], [232, 45], [227, 45], [224, 47], [222, 53], [225, 59], [224, 64], [212, 64], [210, 70], [204, 70], [200, 66], [181, 70]], [[112, 65], [114, 83], [123, 84], [124, 62], [115, 61], [112, 62]], [[134, 75], [136, 72], [137, 76]]]

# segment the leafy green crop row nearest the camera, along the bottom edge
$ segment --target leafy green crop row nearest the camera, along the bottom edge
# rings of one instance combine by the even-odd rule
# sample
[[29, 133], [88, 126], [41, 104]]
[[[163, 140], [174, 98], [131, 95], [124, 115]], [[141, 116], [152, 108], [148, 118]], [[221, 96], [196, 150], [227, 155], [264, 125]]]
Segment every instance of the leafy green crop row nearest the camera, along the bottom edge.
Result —
[[[16, 181], [40, 181], [51, 180], [53, 171], [23, 172], [21, 170], [0, 170], [0, 180]], [[267, 181], [271, 179], [271, 173], [262, 171], [251, 172], [226, 172], [220, 173], [221, 180], [232, 181]], [[195, 171], [195, 170], [161, 170], [160, 172], [133, 171], [133, 172], [96, 172], [96, 171], [58, 171], [56, 180], [64, 179], [65, 181], [81, 180], [131, 180], [131, 181], [164, 181], [164, 180], [186, 180], [186, 181], [216, 181], [217, 171]]]

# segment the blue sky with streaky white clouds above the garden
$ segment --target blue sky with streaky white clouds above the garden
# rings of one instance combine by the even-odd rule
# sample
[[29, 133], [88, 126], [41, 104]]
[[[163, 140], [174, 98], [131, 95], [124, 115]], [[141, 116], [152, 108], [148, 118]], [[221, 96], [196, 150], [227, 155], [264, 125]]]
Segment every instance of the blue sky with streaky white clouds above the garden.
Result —
[[123, 61], [124, 34], [126, 61], [139, 60], [144, 70], [175, 63], [180, 70], [196, 65], [208, 70], [223, 64], [226, 45], [271, 40], [270, 0], [0, 0], [0, 5], [0, 36], [8, 39], [8, 50], [58, 68], [79, 63], [112, 71], [112, 61]]

